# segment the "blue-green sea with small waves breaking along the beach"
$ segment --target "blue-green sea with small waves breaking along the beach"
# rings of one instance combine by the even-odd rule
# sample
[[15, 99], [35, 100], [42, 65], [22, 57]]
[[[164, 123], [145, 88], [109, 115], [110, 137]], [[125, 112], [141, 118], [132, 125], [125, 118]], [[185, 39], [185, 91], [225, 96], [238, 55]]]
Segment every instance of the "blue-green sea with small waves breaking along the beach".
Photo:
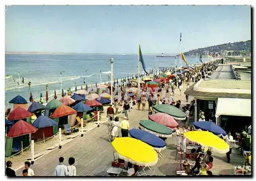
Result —
[[[114, 58], [113, 75], [114, 79], [131, 76], [138, 73], [137, 55], [100, 55], [100, 54], [72, 54], [72, 55], [5, 55], [5, 106], [11, 108], [9, 101], [17, 95], [23, 96], [28, 102], [30, 92], [33, 99], [38, 101], [40, 93], [46, 97], [46, 85], [48, 84], [49, 100], [54, 96], [61, 96], [70, 88], [74, 92], [86, 88], [83, 79], [88, 87], [95, 87], [95, 83], [109, 83], [111, 74], [110, 58]], [[143, 55], [146, 70], [158, 69], [158, 67], [175, 67], [175, 57], [156, 57], [156, 55]], [[196, 57], [187, 57], [189, 64], [196, 64]], [[205, 58], [205, 61], [207, 58]], [[204, 60], [203, 60], [204, 62]], [[177, 65], [179, 58], [177, 59]], [[199, 64], [199, 59], [197, 59]], [[183, 66], [185, 63], [183, 62]], [[140, 65], [140, 72], [143, 68]], [[159, 69], [158, 69], [159, 70]], [[18, 85], [20, 74], [20, 82]], [[61, 81], [60, 81], [61, 71]], [[24, 83], [22, 78], [24, 77]], [[31, 82], [29, 88], [28, 82]], [[62, 86], [62, 89], [61, 89]]]

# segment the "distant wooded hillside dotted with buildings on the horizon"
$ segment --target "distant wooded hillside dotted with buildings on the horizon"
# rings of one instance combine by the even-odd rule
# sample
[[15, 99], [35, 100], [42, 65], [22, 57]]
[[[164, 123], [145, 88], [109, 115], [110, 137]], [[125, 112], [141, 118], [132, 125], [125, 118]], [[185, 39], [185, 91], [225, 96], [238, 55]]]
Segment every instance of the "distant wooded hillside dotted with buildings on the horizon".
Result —
[[[232, 53], [229, 53], [228, 51], [232, 51]], [[241, 53], [241, 51], [243, 51]], [[214, 45], [214, 46], [208, 46], [205, 48], [198, 48], [193, 49], [187, 52], [184, 52], [185, 56], [195, 56], [196, 54], [201, 55], [207, 55], [210, 54], [250, 54], [251, 53], [251, 40], [248, 41], [240, 41], [240, 42], [233, 42], [233, 43], [225, 43], [221, 45]]]

